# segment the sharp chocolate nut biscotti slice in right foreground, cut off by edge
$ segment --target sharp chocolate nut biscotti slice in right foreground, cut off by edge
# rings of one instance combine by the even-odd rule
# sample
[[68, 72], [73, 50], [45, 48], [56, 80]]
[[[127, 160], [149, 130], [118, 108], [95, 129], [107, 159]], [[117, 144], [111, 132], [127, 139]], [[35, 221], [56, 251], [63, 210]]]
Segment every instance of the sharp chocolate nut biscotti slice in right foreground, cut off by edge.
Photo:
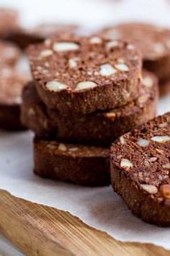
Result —
[[143, 221], [170, 226], [170, 112], [120, 137], [110, 161], [112, 187], [128, 208]]

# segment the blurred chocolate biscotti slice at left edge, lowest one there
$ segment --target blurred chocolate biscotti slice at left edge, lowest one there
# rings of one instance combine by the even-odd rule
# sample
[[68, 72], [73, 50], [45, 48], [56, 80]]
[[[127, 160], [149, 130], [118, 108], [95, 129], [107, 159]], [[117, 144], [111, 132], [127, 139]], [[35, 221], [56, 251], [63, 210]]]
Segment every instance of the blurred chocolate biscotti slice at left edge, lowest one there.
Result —
[[17, 74], [14, 69], [0, 69], [0, 129], [25, 129], [20, 121], [22, 88], [27, 77]]

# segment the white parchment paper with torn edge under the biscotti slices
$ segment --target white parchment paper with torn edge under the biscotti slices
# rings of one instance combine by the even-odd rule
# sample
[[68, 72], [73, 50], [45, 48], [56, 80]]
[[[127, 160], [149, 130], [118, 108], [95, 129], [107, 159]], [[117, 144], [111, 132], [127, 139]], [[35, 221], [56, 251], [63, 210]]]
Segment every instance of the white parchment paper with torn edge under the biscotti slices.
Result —
[[[159, 113], [170, 110], [170, 95]], [[151, 226], [132, 215], [112, 187], [79, 187], [32, 174], [32, 133], [0, 133], [0, 188], [32, 202], [68, 210], [115, 239], [151, 242], [170, 249], [169, 228]]]

